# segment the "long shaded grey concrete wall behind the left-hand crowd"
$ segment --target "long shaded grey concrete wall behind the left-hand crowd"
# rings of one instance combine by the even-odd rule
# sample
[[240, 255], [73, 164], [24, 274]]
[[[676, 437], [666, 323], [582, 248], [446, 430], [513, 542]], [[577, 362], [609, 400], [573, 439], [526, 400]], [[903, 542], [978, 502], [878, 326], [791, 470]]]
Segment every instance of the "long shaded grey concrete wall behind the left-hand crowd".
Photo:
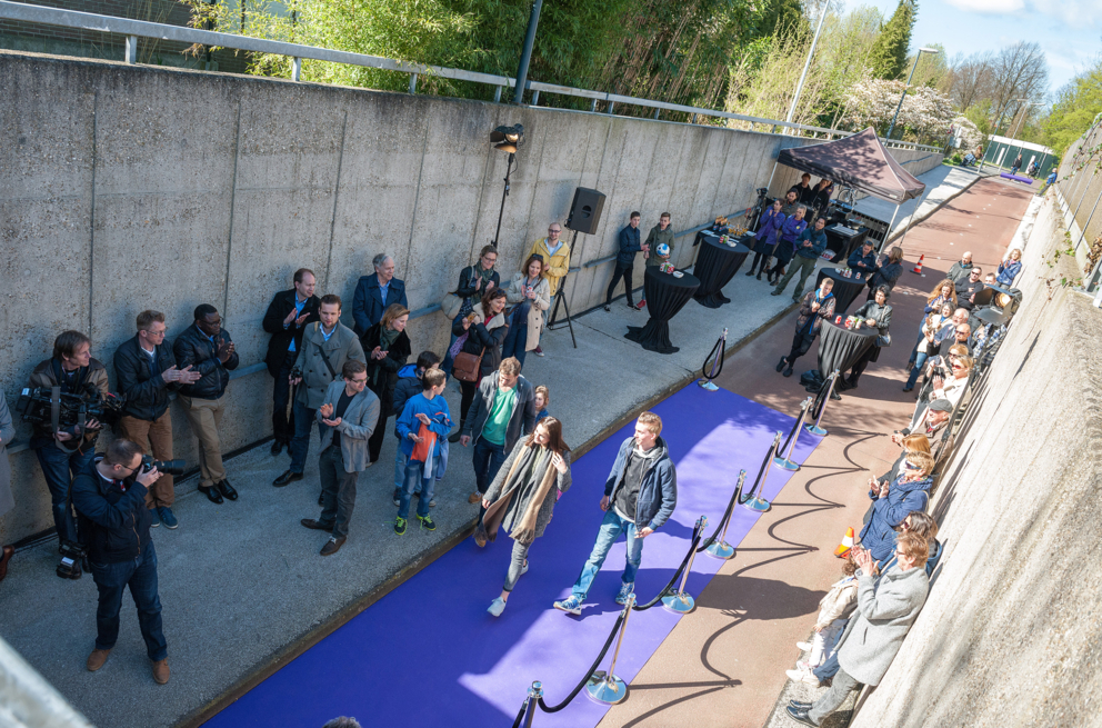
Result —
[[[494, 237], [507, 156], [488, 132], [523, 123], [502, 221], [499, 268], [521, 265], [575, 187], [608, 196], [598, 232], [579, 236], [572, 311], [603, 300], [615, 233], [670, 211], [677, 230], [743, 210], [792, 137], [607, 114], [382, 93], [122, 63], [0, 52], [0, 382], [9, 401], [63, 329], [89, 332], [110, 365], [146, 308], [169, 338], [214, 303], [237, 342], [224, 449], [270, 433], [260, 327], [299, 267], [345, 300], [371, 258], [391, 253], [411, 308], [437, 303]], [[921, 157], [919, 152], [915, 157]], [[780, 168], [774, 187], [787, 188]], [[568, 241], [571, 239], [567, 231]], [[691, 237], [675, 262], [688, 266]], [[441, 351], [439, 312], [410, 326], [414, 351]], [[109, 366], [109, 369], [111, 367]], [[111, 371], [113, 380], [113, 371]], [[174, 415], [177, 457], [196, 440]], [[20, 428], [26, 441], [27, 428]], [[18, 449], [18, 448], [17, 448]], [[12, 455], [9, 542], [52, 525], [33, 453]]]

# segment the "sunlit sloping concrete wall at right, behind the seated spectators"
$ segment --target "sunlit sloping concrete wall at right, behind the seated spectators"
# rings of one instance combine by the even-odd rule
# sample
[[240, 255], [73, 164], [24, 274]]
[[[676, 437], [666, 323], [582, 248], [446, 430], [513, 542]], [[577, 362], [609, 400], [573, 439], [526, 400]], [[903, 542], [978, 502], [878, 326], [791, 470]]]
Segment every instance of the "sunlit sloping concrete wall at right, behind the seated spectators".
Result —
[[[1023, 307], [932, 503], [946, 552], [926, 605], [854, 728], [1099, 726], [1102, 315], [1049, 298], [1064, 247], [1048, 196]], [[974, 418], [974, 419], [973, 419]]]

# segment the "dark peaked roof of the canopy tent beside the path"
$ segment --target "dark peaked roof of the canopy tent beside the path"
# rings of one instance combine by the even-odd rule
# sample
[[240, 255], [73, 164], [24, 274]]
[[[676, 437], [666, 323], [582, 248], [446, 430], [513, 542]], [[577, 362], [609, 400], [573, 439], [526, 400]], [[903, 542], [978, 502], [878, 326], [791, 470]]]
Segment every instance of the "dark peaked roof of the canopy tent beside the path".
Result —
[[926, 188], [888, 153], [872, 127], [836, 141], [782, 149], [777, 161], [895, 205]]

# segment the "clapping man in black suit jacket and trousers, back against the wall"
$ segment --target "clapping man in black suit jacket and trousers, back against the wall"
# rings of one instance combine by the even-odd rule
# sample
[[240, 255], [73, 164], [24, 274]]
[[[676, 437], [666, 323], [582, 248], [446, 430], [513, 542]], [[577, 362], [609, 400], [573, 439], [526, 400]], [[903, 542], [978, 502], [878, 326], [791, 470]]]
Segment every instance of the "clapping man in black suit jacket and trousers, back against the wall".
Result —
[[294, 437], [294, 418], [288, 417], [287, 405], [291, 397], [291, 369], [302, 346], [302, 330], [318, 319], [318, 297], [313, 295], [317, 278], [309, 268], [294, 271], [294, 288], [276, 293], [264, 313], [264, 331], [272, 335], [268, 342], [268, 373], [274, 379], [272, 386], [272, 455], [279, 455], [284, 447], [291, 449]]

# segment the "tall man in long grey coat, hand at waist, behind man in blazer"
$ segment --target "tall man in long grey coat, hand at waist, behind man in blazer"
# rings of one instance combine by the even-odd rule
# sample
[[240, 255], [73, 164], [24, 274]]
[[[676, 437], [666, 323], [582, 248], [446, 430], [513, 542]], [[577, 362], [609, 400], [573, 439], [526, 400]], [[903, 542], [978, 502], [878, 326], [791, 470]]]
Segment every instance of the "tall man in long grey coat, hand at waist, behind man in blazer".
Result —
[[299, 387], [294, 396], [294, 438], [291, 447], [291, 467], [272, 481], [277, 488], [302, 479], [307, 455], [310, 450], [310, 429], [318, 416], [318, 408], [325, 400], [329, 385], [340, 379], [338, 372], [349, 359], [367, 365], [363, 347], [352, 329], [341, 323], [341, 297], [330, 293], [321, 297], [318, 316], [320, 321], [309, 325], [302, 335], [299, 356], [294, 366], [299, 377], [290, 386]]

